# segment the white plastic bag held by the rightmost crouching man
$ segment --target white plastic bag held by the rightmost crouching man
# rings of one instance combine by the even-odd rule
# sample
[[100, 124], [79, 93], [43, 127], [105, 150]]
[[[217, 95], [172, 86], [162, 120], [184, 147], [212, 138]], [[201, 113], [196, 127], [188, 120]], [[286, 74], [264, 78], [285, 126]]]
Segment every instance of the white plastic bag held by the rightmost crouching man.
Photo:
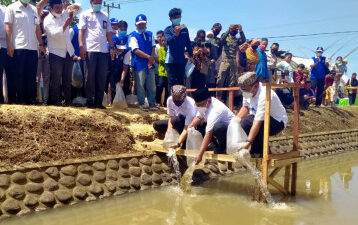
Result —
[[233, 154], [237, 152], [246, 141], [247, 135], [242, 129], [239, 119], [233, 118], [227, 128], [226, 153]]

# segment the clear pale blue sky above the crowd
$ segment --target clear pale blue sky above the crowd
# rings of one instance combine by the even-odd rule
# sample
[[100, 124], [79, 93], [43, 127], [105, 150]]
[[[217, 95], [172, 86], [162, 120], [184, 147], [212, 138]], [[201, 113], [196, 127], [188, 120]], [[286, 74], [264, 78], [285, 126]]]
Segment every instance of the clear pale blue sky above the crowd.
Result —
[[[84, 10], [90, 8], [89, 0], [76, 0]], [[126, 1], [138, 1], [125, 3]], [[121, 9], [110, 11], [110, 17], [125, 20], [128, 31], [134, 30], [138, 14], [148, 18], [147, 28], [155, 33], [170, 25], [168, 12], [181, 8], [182, 24], [193, 38], [196, 31], [211, 29], [214, 23], [223, 25], [223, 32], [230, 24], [241, 24], [247, 38], [277, 37], [326, 32], [357, 31], [353, 34], [335, 34], [313, 37], [269, 38], [295, 56], [313, 57], [318, 46], [326, 57], [335, 60], [358, 47], [357, 0], [109, 0], [110, 4], [122, 3]], [[105, 11], [106, 8], [103, 7]], [[335, 53], [335, 54], [334, 54]], [[348, 58], [348, 77], [358, 72], [358, 51]]]

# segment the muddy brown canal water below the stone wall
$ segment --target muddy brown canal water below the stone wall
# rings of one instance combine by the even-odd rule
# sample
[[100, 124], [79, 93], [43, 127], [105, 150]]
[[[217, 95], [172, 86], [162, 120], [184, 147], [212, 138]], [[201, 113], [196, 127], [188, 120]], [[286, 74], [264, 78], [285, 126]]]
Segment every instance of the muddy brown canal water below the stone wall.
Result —
[[277, 207], [252, 202], [252, 184], [249, 174], [233, 175], [193, 187], [191, 194], [182, 194], [175, 187], [159, 188], [0, 224], [358, 224], [358, 152], [300, 163], [296, 198], [283, 199], [270, 189]]

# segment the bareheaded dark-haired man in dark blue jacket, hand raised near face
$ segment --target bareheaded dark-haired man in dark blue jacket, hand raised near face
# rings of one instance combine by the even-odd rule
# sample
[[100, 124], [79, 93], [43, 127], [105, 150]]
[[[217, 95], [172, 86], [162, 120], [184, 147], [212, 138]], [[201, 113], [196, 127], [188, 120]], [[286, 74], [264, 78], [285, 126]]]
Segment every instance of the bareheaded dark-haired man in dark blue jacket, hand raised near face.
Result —
[[164, 37], [168, 44], [165, 63], [168, 73], [169, 90], [174, 85], [185, 85], [185, 52], [189, 54], [189, 60], [193, 62], [193, 48], [188, 28], [185, 25], [180, 25], [181, 13], [181, 9], [171, 9], [169, 11], [169, 19], [172, 25], [164, 30]]

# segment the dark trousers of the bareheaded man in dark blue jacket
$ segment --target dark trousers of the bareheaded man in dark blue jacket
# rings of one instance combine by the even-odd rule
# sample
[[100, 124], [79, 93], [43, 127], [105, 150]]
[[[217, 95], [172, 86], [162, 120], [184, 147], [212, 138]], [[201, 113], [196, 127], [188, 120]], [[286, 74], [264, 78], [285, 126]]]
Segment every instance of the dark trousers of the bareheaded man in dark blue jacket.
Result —
[[168, 73], [169, 93], [174, 85], [185, 86], [185, 63], [167, 63], [165, 69]]

